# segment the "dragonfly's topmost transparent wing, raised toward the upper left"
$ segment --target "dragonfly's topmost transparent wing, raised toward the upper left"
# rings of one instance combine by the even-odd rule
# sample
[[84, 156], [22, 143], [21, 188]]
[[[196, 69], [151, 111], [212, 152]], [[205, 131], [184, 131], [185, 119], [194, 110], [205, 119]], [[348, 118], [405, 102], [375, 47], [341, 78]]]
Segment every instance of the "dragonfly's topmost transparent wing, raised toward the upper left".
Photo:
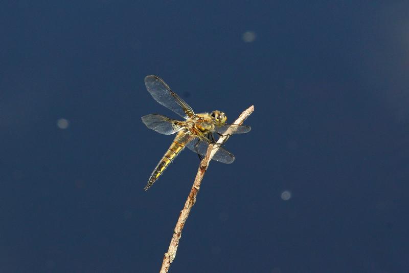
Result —
[[154, 75], [146, 76], [145, 86], [157, 102], [161, 103], [164, 107], [172, 110], [179, 116], [188, 118], [194, 115], [189, 104], [173, 92], [160, 77]]

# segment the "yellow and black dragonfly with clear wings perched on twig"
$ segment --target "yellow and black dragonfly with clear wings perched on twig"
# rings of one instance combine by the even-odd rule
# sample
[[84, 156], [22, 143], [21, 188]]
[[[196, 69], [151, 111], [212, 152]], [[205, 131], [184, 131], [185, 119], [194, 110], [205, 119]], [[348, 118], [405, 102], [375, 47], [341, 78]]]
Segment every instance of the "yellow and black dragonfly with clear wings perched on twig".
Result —
[[149, 129], [164, 135], [176, 134], [169, 149], [157, 163], [149, 177], [144, 188], [145, 191], [153, 185], [185, 147], [198, 154], [199, 158], [202, 159], [207, 155], [210, 146], [213, 160], [226, 164], [234, 161], [234, 155], [214, 141], [213, 133], [219, 135], [226, 135], [225, 133], [229, 135], [243, 134], [249, 132], [251, 127], [226, 123], [227, 116], [218, 110], [211, 113], [195, 114], [189, 104], [173, 92], [165, 81], [158, 76], [146, 76], [145, 86], [158, 103], [184, 119], [171, 119], [160, 114], [149, 114], [142, 117], [142, 122]]

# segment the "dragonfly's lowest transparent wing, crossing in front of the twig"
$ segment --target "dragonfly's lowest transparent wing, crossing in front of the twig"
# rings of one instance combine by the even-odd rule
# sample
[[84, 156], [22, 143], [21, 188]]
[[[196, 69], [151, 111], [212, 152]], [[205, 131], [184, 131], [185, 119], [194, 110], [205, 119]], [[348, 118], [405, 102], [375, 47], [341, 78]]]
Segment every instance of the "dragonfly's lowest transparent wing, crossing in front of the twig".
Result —
[[186, 146], [191, 151], [206, 156], [209, 144], [213, 145], [213, 149], [215, 151], [214, 156], [212, 157], [213, 160], [230, 164], [234, 161], [234, 155], [229, 151], [225, 150], [222, 146], [213, 144], [210, 139], [208, 139], [205, 135], [199, 133], [198, 135], [187, 135], [190, 139], [187, 142]]

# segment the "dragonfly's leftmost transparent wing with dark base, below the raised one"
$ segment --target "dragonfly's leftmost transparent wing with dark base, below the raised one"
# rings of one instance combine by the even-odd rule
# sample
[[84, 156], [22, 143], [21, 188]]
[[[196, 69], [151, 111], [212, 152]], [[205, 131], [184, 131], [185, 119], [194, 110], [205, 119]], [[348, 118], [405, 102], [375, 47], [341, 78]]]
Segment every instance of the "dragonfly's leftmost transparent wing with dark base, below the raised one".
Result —
[[146, 127], [164, 135], [172, 135], [183, 129], [182, 121], [173, 120], [158, 114], [149, 114], [142, 117]]

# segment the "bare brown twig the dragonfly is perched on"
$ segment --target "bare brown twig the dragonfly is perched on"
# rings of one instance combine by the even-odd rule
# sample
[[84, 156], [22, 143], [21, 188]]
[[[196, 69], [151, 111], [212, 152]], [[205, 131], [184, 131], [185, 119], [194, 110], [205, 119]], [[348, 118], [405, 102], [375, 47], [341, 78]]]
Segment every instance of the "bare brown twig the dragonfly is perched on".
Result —
[[[241, 125], [244, 122], [244, 120], [253, 113], [253, 111], [254, 111], [254, 106], [249, 107], [248, 109], [243, 111], [243, 113], [241, 113], [241, 115], [236, 119], [235, 122], [233, 122], [233, 124]], [[224, 143], [224, 141], [226, 141], [228, 137], [229, 137], [229, 131], [226, 131], [225, 135], [221, 136], [217, 140], [216, 144]], [[185, 226], [189, 213], [193, 205], [196, 202], [196, 196], [200, 189], [201, 180], [203, 179], [203, 176], [205, 175], [205, 172], [208, 169], [208, 166], [209, 166], [210, 160], [213, 157], [213, 154], [216, 152], [212, 148], [213, 148], [212, 146], [209, 146], [207, 156], [200, 161], [199, 169], [197, 170], [197, 174], [196, 174], [195, 181], [193, 182], [192, 190], [190, 190], [188, 199], [185, 202], [185, 206], [180, 211], [179, 219], [177, 219], [175, 229], [173, 230], [173, 236], [172, 236], [172, 240], [170, 241], [168, 252], [165, 253], [165, 256], [163, 258], [163, 263], [162, 263], [160, 273], [167, 273], [169, 270], [170, 264], [173, 262], [173, 260], [176, 257], [176, 250], [177, 250], [177, 246], [179, 245], [179, 240], [180, 240], [180, 236], [182, 233], [182, 229]]]

